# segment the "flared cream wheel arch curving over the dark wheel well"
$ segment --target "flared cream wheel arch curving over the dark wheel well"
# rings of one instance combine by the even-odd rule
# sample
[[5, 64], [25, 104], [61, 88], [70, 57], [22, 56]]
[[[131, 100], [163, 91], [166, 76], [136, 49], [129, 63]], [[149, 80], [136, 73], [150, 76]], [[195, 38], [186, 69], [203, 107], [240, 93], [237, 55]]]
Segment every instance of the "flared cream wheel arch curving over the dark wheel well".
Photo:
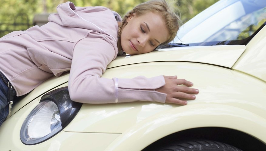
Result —
[[[172, 133], [198, 127], [241, 130], [266, 142], [266, 120], [250, 111], [221, 104], [191, 104], [160, 112], [130, 127], [105, 150], [141, 150]], [[134, 143], [132, 143], [134, 142]]]

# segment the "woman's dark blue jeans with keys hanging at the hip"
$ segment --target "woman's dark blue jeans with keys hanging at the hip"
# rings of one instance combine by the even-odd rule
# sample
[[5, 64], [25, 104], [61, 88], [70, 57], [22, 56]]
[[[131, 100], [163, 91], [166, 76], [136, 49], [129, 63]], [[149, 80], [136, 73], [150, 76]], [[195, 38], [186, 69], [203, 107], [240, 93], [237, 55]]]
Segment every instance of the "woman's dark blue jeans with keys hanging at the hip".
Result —
[[[5, 82], [8, 83], [8, 79], [1, 72], [0, 72], [0, 74], [4, 78]], [[9, 114], [9, 108], [8, 108], [8, 102], [7, 102], [8, 86], [6, 85], [5, 82], [0, 77], [0, 126], [5, 121], [7, 115]], [[15, 90], [14, 90], [13, 95], [14, 96], [16, 95]], [[15, 102], [15, 97], [14, 97], [13, 102]]]

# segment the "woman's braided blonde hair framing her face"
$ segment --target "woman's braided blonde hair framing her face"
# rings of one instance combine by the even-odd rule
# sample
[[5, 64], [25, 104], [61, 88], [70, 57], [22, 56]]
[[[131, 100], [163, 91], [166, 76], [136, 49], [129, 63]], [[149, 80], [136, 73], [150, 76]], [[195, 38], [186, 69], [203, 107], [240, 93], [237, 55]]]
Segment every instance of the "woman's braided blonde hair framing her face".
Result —
[[133, 13], [135, 13], [136, 16], [140, 16], [140, 15], [145, 14], [147, 12], [159, 13], [162, 16], [162, 18], [165, 20], [165, 24], [166, 24], [166, 27], [168, 29], [170, 36], [168, 37], [168, 39], [165, 42], [161, 43], [160, 45], [165, 45], [165, 44], [169, 43], [176, 36], [177, 31], [178, 31], [179, 26], [180, 26], [180, 24], [179, 24], [180, 23], [180, 17], [170, 9], [167, 2], [165, 2], [165, 0], [151, 0], [148, 2], [144, 2], [144, 3], [137, 5], [135, 8], [133, 8], [133, 10], [129, 11], [124, 16], [124, 18], [123, 18], [123, 20], [122, 20], [122, 22], [118, 28], [117, 46], [118, 46], [118, 54], [119, 55], [123, 55], [120, 37], [121, 37], [121, 33], [122, 33], [122, 28], [127, 24], [127, 22], [126, 22], [127, 19]]

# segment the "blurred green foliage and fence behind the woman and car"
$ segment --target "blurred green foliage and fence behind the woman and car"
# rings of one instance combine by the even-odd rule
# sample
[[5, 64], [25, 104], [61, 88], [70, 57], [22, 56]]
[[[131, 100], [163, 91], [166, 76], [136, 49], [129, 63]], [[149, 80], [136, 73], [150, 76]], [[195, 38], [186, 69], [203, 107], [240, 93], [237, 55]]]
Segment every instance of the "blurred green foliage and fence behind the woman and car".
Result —
[[[105, 6], [121, 15], [135, 5], [148, 0], [72, 0], [76, 6]], [[218, 0], [166, 0], [183, 23]], [[0, 37], [12, 31], [26, 30], [47, 22], [49, 14], [56, 13], [57, 5], [67, 0], [0, 0]]]

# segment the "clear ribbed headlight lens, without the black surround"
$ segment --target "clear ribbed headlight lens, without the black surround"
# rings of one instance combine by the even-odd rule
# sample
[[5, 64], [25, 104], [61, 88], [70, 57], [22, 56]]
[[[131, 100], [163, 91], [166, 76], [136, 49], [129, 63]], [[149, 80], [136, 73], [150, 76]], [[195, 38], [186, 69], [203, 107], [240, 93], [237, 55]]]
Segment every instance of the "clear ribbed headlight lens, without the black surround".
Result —
[[42, 101], [22, 124], [20, 139], [25, 144], [42, 142], [62, 130], [59, 109], [52, 101]]

